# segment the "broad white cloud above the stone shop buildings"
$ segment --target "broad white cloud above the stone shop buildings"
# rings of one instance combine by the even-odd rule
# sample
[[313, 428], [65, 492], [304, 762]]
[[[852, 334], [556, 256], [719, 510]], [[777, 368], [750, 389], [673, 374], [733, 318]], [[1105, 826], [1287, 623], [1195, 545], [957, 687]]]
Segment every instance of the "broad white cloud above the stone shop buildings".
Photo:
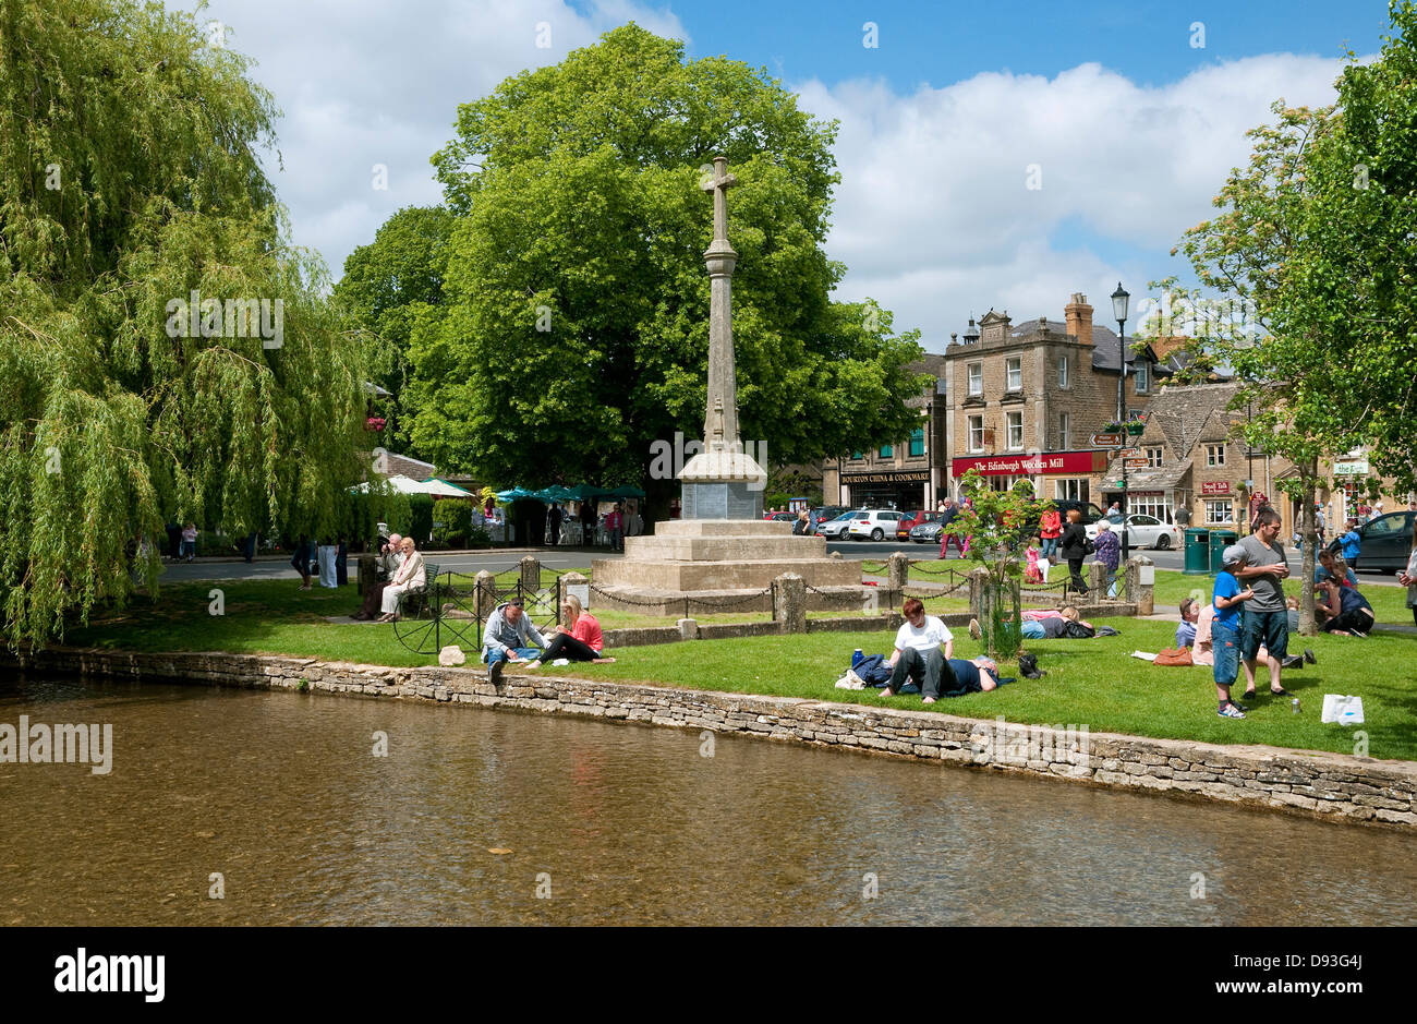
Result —
[[[1246, 130], [1270, 104], [1333, 101], [1336, 60], [1264, 55], [1141, 87], [1098, 64], [1056, 78], [979, 74], [896, 95], [881, 82], [795, 87], [840, 119], [828, 248], [849, 268], [842, 298], [871, 295], [897, 329], [939, 350], [969, 311], [1063, 319], [1074, 291], [1102, 319], [1118, 278], [1134, 295], [1183, 272], [1170, 247], [1209, 216]], [[1029, 190], [1037, 165], [1041, 189]], [[1080, 226], [1097, 235], [1070, 241]], [[1097, 250], [1102, 251], [1097, 251]]]

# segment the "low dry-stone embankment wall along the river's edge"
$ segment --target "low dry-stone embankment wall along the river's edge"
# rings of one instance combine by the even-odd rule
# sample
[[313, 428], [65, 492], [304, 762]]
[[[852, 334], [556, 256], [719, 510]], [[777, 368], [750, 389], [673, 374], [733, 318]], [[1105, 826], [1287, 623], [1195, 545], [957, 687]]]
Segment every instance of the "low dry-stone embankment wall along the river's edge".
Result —
[[1417, 763], [983, 722], [802, 698], [748, 696], [482, 669], [385, 668], [313, 658], [51, 648], [3, 661], [143, 682], [310, 689], [449, 701], [871, 750], [1417, 831]]

